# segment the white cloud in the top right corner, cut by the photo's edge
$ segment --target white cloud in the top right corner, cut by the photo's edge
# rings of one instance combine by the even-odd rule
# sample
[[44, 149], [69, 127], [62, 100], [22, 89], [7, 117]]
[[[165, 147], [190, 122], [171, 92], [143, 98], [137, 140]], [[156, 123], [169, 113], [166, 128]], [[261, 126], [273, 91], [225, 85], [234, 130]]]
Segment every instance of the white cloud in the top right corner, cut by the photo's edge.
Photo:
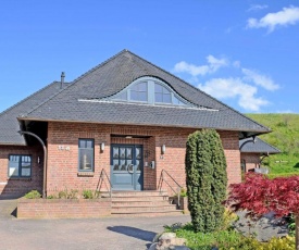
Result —
[[273, 32], [276, 26], [295, 25], [299, 22], [299, 8], [289, 7], [283, 8], [282, 11], [276, 13], [269, 13], [260, 20], [249, 18], [247, 21], [248, 28], [267, 28]]

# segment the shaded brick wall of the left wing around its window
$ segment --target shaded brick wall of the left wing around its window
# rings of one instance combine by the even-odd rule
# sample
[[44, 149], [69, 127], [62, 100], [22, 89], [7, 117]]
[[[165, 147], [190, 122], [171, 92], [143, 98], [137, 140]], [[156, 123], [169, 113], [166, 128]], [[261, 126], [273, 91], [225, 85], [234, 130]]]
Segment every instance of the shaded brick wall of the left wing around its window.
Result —
[[[32, 155], [30, 177], [8, 177], [10, 154]], [[40, 158], [40, 163], [38, 163], [38, 158]], [[21, 197], [33, 189], [37, 189], [41, 192], [43, 173], [42, 160], [43, 151], [41, 147], [0, 146], [0, 198], [10, 196]]]

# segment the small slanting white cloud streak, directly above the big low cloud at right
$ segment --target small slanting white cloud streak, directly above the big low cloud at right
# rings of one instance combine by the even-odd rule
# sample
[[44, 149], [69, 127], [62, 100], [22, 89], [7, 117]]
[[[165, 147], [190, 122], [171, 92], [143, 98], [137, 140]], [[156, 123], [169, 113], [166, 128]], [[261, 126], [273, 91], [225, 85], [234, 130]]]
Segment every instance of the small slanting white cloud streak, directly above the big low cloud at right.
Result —
[[250, 80], [266, 90], [273, 91], [279, 88], [279, 86], [275, 84], [269, 76], [259, 74], [258, 72], [248, 68], [241, 68], [241, 72], [245, 74], [245, 78], [247, 80]]

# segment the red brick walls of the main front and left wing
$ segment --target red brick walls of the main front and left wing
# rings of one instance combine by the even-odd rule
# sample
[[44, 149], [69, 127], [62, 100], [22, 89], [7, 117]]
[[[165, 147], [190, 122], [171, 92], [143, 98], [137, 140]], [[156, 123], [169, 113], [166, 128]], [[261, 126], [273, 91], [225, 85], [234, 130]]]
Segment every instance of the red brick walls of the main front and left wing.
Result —
[[[155, 190], [159, 185], [161, 171], [166, 170], [176, 182], [185, 186], [185, 145], [189, 134], [196, 129], [166, 128], [150, 126], [102, 125], [85, 123], [48, 124], [48, 168], [47, 192], [51, 195], [65, 188], [95, 189], [99, 184], [100, 172], [105, 170], [110, 175], [110, 146], [111, 143], [142, 145], [144, 163], [144, 189]], [[219, 132], [227, 161], [228, 184], [239, 183], [240, 153], [238, 148], [238, 132]], [[127, 139], [124, 135], [140, 136], [140, 138]], [[95, 172], [78, 172], [78, 139], [91, 138], [95, 140]], [[104, 142], [104, 150], [100, 150], [100, 143]], [[166, 146], [166, 151], [161, 154], [161, 146]], [[2, 185], [0, 188], [13, 192], [25, 192], [32, 189], [40, 190], [42, 187], [42, 165], [37, 164], [37, 157], [42, 157], [42, 151], [29, 148], [1, 147], [0, 182], [7, 182], [9, 153], [33, 154], [33, 177], [29, 180], [15, 180], [13, 185]], [[149, 167], [151, 161], [155, 161], [155, 167]], [[27, 183], [26, 183], [27, 182]], [[171, 183], [171, 179], [169, 178]], [[107, 185], [102, 190], [107, 190]], [[175, 187], [174, 184], [171, 183]], [[10, 187], [11, 186], [11, 187]], [[10, 187], [10, 189], [9, 189]], [[165, 183], [163, 188], [166, 188]], [[1, 191], [1, 189], [0, 189]], [[1, 193], [1, 192], [0, 192]]]

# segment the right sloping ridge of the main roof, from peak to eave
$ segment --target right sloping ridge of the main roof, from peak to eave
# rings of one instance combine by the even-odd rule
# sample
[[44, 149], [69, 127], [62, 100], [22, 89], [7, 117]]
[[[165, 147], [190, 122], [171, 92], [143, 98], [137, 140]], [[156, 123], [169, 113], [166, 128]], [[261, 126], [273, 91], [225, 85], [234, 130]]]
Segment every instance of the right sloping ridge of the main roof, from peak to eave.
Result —
[[[241, 116], [244, 116], [245, 118], [247, 118], [247, 120], [249, 120], [249, 121], [251, 121], [251, 122], [253, 122], [253, 123], [258, 124], [259, 126], [262, 126], [262, 127], [266, 128], [269, 132], [271, 132], [271, 128], [269, 128], [269, 127], [266, 127], [266, 126], [264, 126], [264, 125], [262, 125], [262, 124], [260, 124], [260, 123], [256, 122], [254, 120], [252, 120], [252, 118], [250, 118], [250, 117], [246, 116], [245, 114], [240, 113], [239, 111], [237, 111], [237, 110], [235, 110], [235, 109], [233, 109], [233, 108], [228, 107], [228, 105], [227, 105], [227, 104], [225, 104], [224, 102], [222, 102], [222, 101], [217, 100], [216, 98], [214, 98], [214, 97], [210, 96], [209, 93], [207, 93], [207, 92], [204, 92], [204, 91], [200, 90], [199, 88], [197, 88], [197, 87], [195, 87], [194, 85], [189, 84], [188, 82], [186, 82], [186, 80], [184, 80], [184, 79], [179, 78], [178, 76], [176, 76], [176, 75], [174, 75], [174, 74], [172, 74], [172, 73], [170, 73], [170, 72], [167, 72], [167, 71], [163, 70], [163, 68], [162, 68], [162, 67], [160, 67], [160, 66], [157, 66], [155, 64], [153, 64], [153, 63], [149, 62], [149, 61], [148, 61], [148, 60], [146, 60], [146, 59], [142, 59], [141, 57], [139, 57], [138, 54], [135, 54], [135, 53], [130, 52], [129, 50], [125, 50], [125, 51], [127, 51], [127, 52], [132, 53], [133, 55], [137, 57], [138, 59], [140, 59], [140, 60], [142, 60], [142, 61], [145, 61], [145, 62], [147, 62], [147, 63], [151, 64], [152, 66], [154, 66], [154, 67], [157, 67], [157, 68], [159, 68], [159, 70], [163, 71], [164, 73], [172, 75], [173, 77], [175, 77], [175, 78], [177, 78], [177, 79], [182, 80], [183, 83], [187, 84], [188, 86], [192, 87], [195, 90], [197, 90], [197, 91], [199, 91], [199, 92], [201, 92], [201, 93], [203, 93], [203, 95], [207, 95], [208, 97], [212, 98], [212, 99], [213, 99], [213, 100], [215, 100], [216, 102], [219, 102], [219, 103], [223, 104], [224, 107], [226, 107], [226, 109], [229, 109], [229, 110], [232, 110], [232, 111], [234, 111], [234, 112], [236, 112], [236, 113], [240, 114], [240, 115], [241, 115]], [[209, 107], [204, 107], [204, 108], [209, 108]]]

